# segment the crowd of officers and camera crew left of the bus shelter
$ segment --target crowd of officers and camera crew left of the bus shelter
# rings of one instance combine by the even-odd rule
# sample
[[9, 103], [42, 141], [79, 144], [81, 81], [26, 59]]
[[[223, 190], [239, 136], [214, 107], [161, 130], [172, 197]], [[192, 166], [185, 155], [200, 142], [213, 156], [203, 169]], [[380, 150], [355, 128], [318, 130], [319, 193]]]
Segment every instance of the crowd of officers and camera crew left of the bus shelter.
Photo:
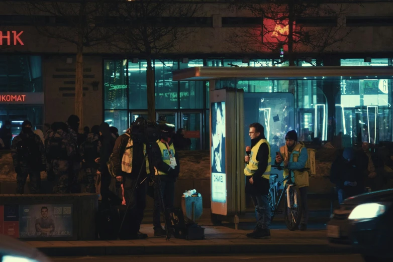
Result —
[[[173, 208], [174, 185], [180, 167], [177, 150], [188, 149], [191, 142], [184, 136], [183, 128], [175, 134], [173, 125], [169, 128], [169, 124], [161, 121], [159, 138], [146, 143], [133, 133], [133, 127], [140, 129], [143, 124], [145, 119], [137, 119], [120, 136], [118, 129], [106, 122], [91, 128], [86, 126], [79, 133], [76, 115], [70, 115], [66, 122], [45, 124], [43, 131], [33, 130], [30, 121], [23, 121], [20, 134], [4, 141], [11, 149], [17, 173], [17, 193], [24, 193], [28, 177], [31, 193], [41, 193], [41, 172], [46, 171], [48, 180], [54, 184], [52, 193], [97, 193], [102, 206], [128, 205], [121, 237], [143, 239], [147, 235], [139, 232], [139, 228], [146, 194], [152, 188], [154, 235], [165, 235], [160, 222], [160, 195], [164, 208]], [[9, 130], [6, 123], [0, 130], [3, 138], [9, 136]], [[149, 158], [146, 151], [150, 152]], [[159, 183], [154, 183], [156, 176], [160, 178]]]

